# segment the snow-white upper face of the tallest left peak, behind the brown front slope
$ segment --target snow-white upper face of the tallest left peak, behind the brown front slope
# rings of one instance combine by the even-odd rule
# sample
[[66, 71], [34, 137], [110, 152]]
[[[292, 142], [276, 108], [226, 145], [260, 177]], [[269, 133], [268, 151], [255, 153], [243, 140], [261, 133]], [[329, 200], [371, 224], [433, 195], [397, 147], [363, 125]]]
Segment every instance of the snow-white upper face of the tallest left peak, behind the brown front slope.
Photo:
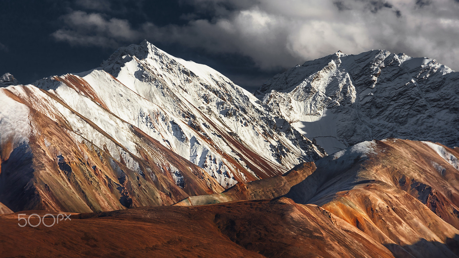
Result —
[[[101, 69], [131, 91], [104, 97], [115, 114], [205, 169], [224, 187], [283, 174], [300, 161], [325, 155], [221, 73], [170, 56], [147, 41], [120, 48]], [[90, 79], [92, 73], [81, 76], [92, 84], [97, 81]], [[139, 96], [154, 105], [125, 104], [141, 101]]]

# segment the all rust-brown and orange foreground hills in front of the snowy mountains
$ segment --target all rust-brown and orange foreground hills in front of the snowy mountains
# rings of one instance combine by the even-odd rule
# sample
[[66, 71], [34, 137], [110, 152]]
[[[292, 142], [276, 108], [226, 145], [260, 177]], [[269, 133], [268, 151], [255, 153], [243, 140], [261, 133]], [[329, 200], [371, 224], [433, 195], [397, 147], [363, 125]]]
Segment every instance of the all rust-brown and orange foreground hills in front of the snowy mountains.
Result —
[[457, 148], [363, 142], [173, 206], [74, 214], [52, 227], [1, 215], [1, 255], [457, 257], [458, 197]]

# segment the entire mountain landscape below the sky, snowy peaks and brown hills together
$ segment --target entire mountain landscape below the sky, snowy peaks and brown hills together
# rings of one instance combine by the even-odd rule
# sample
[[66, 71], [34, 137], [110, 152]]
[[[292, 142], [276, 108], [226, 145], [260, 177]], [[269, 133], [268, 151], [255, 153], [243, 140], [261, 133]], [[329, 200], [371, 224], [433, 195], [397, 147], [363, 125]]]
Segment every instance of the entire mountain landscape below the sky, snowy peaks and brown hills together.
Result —
[[[457, 77], [339, 51], [252, 95], [147, 41], [83, 73], [7, 73], [0, 256], [458, 257]], [[57, 212], [73, 220], [17, 226]]]

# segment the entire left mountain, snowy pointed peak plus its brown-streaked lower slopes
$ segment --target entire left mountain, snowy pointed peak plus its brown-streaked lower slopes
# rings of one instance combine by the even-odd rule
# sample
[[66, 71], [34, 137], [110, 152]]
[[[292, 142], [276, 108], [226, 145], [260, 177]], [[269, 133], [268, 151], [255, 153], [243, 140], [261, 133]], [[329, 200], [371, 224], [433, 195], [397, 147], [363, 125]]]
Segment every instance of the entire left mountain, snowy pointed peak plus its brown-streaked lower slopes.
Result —
[[13, 211], [167, 205], [325, 155], [222, 74], [147, 41], [0, 101], [0, 202]]

